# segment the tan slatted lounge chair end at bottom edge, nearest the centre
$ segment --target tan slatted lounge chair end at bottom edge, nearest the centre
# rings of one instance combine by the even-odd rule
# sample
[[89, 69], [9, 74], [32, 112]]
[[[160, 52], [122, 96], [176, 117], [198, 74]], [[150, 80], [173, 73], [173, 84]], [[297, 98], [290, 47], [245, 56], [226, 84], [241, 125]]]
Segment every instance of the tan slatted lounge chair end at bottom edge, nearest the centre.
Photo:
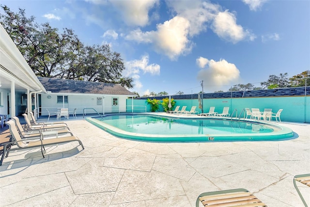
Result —
[[266, 207], [253, 193], [241, 188], [203, 192], [196, 200], [196, 207], [199, 207], [200, 202], [205, 207]]

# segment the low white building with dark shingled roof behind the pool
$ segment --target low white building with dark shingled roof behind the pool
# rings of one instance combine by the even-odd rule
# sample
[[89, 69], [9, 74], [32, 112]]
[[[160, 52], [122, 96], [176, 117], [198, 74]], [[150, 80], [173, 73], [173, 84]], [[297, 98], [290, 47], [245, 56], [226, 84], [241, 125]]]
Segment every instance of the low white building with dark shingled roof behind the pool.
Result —
[[38, 77], [47, 93], [38, 96], [39, 115], [58, 108], [77, 114], [126, 112], [126, 99], [137, 96], [119, 84]]

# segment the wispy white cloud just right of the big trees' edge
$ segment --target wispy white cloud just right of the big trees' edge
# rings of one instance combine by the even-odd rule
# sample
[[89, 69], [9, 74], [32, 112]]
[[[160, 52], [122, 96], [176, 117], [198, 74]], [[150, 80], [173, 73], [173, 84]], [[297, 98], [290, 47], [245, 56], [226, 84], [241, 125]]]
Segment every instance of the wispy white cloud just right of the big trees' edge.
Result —
[[135, 59], [131, 61], [126, 61], [124, 63], [125, 70], [123, 71], [123, 75], [126, 77], [134, 78], [134, 90], [138, 90], [142, 88], [142, 83], [140, 82], [140, 73], [150, 73], [152, 75], [160, 74], [160, 65], [152, 63], [149, 64], [149, 56], [144, 55], [141, 59]]

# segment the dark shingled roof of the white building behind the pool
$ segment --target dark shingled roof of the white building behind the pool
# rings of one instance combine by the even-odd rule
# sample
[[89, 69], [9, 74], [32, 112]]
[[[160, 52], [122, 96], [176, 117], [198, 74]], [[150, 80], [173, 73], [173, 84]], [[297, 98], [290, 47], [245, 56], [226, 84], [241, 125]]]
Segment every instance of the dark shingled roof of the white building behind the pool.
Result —
[[66, 80], [48, 77], [38, 77], [38, 79], [44, 88], [47, 91], [51, 91], [52, 93], [88, 93], [101, 95], [136, 96], [136, 94], [130, 92], [119, 84]]

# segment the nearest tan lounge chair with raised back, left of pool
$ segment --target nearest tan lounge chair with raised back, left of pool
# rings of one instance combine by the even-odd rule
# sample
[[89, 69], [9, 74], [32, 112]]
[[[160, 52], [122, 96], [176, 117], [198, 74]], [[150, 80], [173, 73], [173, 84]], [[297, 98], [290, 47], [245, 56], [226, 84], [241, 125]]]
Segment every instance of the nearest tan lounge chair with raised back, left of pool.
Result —
[[[14, 121], [9, 120], [7, 122], [7, 124], [9, 125], [9, 129], [10, 129], [10, 133], [12, 135], [13, 141], [0, 144], [0, 147], [3, 146], [3, 154], [2, 154], [2, 157], [0, 159], [0, 166], [2, 165], [2, 161], [4, 159], [4, 154], [7, 150], [13, 151], [13, 150], [18, 150], [18, 149], [26, 149], [26, 148], [41, 148], [41, 153], [42, 153], [42, 156], [44, 158], [43, 149], [45, 150], [44, 147], [49, 146], [49, 145], [58, 145], [58, 144], [62, 144], [62, 143], [77, 141], [79, 143], [79, 145], [82, 146], [82, 148], [84, 149], [84, 146], [83, 146], [81, 140], [79, 140], [78, 137], [76, 137], [76, 136], [66, 136], [66, 137], [52, 138], [52, 139], [42, 139], [42, 138], [21, 139], [21, 137], [20, 137], [20, 135], [16, 129]], [[11, 145], [11, 144], [16, 145], [17, 148], [7, 149], [6, 146]]]

